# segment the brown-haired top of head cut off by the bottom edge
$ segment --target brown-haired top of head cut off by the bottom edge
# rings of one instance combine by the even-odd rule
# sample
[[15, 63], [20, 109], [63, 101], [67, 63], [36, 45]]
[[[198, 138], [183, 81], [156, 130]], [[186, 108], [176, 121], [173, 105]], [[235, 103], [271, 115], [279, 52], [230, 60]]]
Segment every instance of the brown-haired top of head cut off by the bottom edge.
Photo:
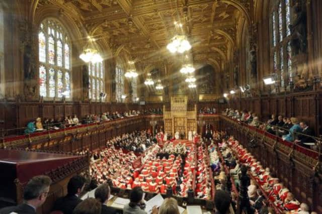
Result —
[[101, 214], [102, 204], [95, 198], [87, 198], [74, 208], [72, 214]]

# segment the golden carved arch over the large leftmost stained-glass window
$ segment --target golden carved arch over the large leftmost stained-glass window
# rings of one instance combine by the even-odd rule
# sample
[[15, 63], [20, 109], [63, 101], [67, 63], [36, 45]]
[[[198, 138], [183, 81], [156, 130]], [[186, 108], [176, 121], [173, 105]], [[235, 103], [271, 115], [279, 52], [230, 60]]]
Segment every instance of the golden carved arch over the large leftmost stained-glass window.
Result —
[[42, 21], [47, 18], [55, 19], [59, 21], [64, 30], [66, 30], [74, 47], [76, 47], [78, 51], [81, 51], [84, 46], [83, 42], [85, 42], [79, 41], [79, 38], [83, 38], [82, 32], [78, 29], [78, 26], [72, 17], [66, 13], [64, 13], [63, 16], [58, 16], [59, 13], [60, 8], [54, 5], [48, 5], [37, 9], [33, 20], [35, 28], [38, 29]]

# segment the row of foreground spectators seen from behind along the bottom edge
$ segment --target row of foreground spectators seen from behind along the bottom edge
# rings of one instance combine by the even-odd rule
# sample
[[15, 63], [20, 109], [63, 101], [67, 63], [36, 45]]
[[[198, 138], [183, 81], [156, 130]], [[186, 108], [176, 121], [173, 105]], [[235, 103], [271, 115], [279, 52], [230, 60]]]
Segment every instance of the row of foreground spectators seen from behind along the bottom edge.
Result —
[[[16, 206], [8, 206], [0, 209], [1, 214], [22, 213], [36, 214], [45, 204], [52, 180], [48, 176], [38, 175], [29, 180], [23, 189], [23, 203]], [[108, 206], [107, 202], [111, 195], [110, 184], [102, 183], [94, 186], [94, 197], [81, 199], [86, 193], [87, 180], [81, 175], [70, 178], [67, 184], [67, 194], [59, 197], [53, 203], [50, 213], [64, 214], [115, 214], [119, 213], [115, 208]], [[91, 190], [89, 189], [89, 190]], [[216, 212], [228, 213], [230, 197], [224, 191], [217, 191], [214, 200]], [[48, 205], [48, 203], [47, 203]], [[41, 208], [42, 207], [42, 208]], [[144, 203], [144, 193], [140, 186], [135, 186], [129, 195], [129, 203], [125, 204], [122, 212], [124, 214], [147, 214]], [[153, 206], [151, 214], [180, 214], [178, 202], [175, 198], [165, 198], [159, 206]], [[303, 212], [304, 213], [304, 212]]]

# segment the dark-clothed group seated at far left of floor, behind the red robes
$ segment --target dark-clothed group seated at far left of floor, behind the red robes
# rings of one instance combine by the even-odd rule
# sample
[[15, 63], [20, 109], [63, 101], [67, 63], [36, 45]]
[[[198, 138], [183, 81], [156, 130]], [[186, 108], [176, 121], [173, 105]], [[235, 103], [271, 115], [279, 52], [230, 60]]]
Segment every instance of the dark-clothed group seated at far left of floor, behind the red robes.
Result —
[[155, 143], [155, 138], [146, 130], [126, 133], [122, 136], [114, 137], [107, 141], [107, 146], [114, 145], [134, 152], [144, 152], [148, 147]]

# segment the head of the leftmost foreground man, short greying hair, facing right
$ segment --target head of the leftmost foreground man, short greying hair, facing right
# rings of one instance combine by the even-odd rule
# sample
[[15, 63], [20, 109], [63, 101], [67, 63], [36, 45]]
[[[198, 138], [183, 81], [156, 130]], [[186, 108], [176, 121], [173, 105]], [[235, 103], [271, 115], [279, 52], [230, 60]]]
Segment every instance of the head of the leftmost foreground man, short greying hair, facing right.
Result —
[[24, 200], [36, 207], [40, 206], [47, 198], [51, 182], [50, 177], [45, 175], [31, 178], [24, 188]]

